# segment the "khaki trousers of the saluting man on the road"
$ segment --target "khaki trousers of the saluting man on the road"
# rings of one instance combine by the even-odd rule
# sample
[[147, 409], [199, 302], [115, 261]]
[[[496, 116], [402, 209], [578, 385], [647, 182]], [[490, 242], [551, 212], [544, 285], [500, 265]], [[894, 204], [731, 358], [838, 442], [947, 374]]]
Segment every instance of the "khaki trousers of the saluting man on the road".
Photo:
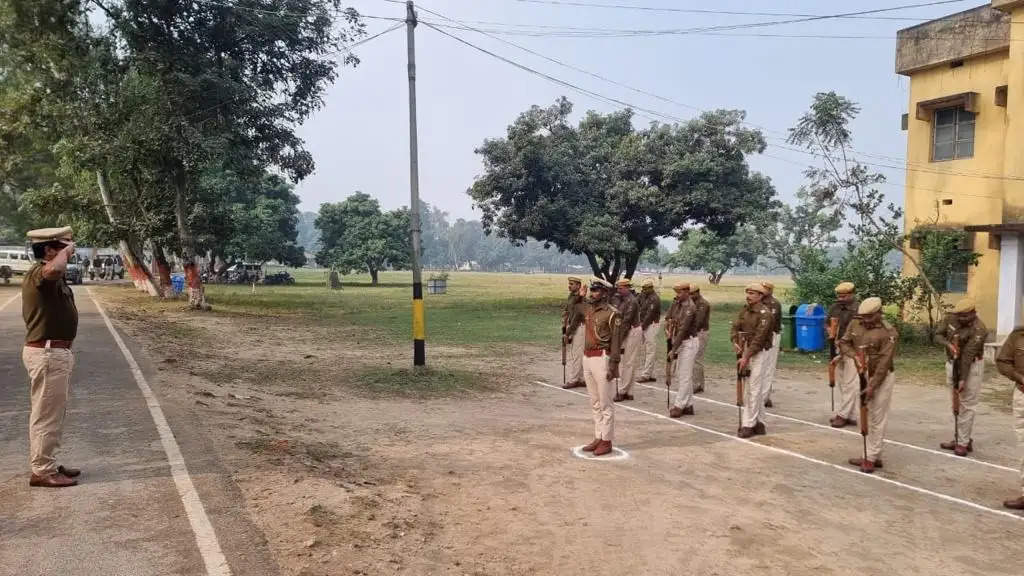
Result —
[[75, 356], [66, 348], [25, 346], [22, 362], [29, 372], [32, 411], [29, 414], [29, 463], [32, 474], [51, 476], [57, 471], [54, 452], [63, 435], [71, 371]]

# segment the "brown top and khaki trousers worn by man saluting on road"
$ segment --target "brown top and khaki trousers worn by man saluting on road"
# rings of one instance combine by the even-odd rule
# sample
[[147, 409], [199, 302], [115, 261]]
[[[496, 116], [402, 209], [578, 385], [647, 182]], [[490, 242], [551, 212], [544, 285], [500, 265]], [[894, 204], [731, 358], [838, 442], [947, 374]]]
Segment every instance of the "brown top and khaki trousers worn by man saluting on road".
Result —
[[71, 342], [78, 335], [75, 294], [63, 277], [47, 280], [43, 263], [37, 262], [22, 283], [22, 316], [26, 326], [26, 346], [22, 362], [29, 373], [32, 410], [29, 415], [29, 450], [32, 474], [56, 474], [54, 453], [63, 435], [71, 372], [75, 357], [70, 347], [52, 345]]

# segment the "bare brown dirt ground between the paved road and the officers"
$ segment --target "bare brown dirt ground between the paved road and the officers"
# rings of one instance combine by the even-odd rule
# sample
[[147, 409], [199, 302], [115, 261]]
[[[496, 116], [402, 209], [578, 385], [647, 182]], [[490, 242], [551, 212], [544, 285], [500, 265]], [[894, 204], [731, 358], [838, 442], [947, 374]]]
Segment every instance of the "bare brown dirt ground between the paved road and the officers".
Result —
[[160, 367], [154, 387], [217, 430], [284, 574], [1022, 573], [1024, 517], [998, 509], [1019, 490], [999, 378], [970, 459], [933, 450], [951, 436], [946, 392], [897, 381], [888, 437], [902, 444], [876, 477], [852, 471], [860, 437], [815, 425], [828, 393], [811, 373], [780, 374], [773, 412], [788, 419], [737, 441], [719, 370], [681, 421], [662, 416], [662, 382], [639, 388], [615, 413], [628, 457], [589, 461], [571, 454], [592, 437], [587, 400], [541, 383], [560, 383], [557, 351], [433, 347], [431, 362], [489, 385], [381, 395], [352, 374], [410, 351], [357, 329], [141, 315], [96, 295]]

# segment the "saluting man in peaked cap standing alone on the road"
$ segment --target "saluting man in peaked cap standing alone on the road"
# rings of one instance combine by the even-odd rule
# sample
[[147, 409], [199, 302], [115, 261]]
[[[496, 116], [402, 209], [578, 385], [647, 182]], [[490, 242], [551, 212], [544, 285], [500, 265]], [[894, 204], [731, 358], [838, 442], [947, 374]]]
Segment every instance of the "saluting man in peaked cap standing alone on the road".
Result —
[[22, 283], [25, 347], [22, 360], [29, 372], [32, 410], [29, 446], [30, 486], [75, 486], [80, 470], [58, 465], [54, 453], [63, 434], [71, 372], [75, 365], [72, 342], [78, 334], [75, 294], [65, 282], [68, 258], [75, 253], [71, 228], [29, 233], [36, 263]]

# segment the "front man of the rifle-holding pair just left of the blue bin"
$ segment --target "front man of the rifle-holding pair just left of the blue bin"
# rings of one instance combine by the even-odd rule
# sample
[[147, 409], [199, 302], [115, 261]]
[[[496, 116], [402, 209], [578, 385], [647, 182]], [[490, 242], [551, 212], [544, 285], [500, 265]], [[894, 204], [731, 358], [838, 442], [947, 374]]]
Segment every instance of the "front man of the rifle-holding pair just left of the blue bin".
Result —
[[736, 369], [739, 372], [750, 369], [751, 373], [744, 390], [739, 438], [767, 434], [764, 400], [768, 387], [765, 384], [764, 364], [768, 361], [766, 353], [771, 349], [772, 334], [771, 312], [762, 303], [767, 293], [768, 290], [760, 282], [748, 285], [746, 305], [740, 308], [730, 330], [733, 349], [739, 357]]

